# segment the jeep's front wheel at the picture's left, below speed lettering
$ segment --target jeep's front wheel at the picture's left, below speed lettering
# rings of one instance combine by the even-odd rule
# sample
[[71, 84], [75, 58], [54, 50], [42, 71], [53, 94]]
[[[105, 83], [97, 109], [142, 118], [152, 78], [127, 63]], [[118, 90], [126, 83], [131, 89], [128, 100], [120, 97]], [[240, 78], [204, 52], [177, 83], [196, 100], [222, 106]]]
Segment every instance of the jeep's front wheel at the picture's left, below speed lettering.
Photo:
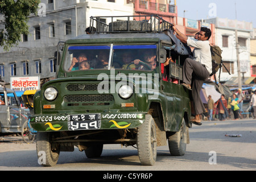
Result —
[[51, 133], [38, 132], [36, 136], [36, 152], [38, 154], [38, 163], [42, 166], [55, 166], [59, 159], [60, 146], [52, 145]]

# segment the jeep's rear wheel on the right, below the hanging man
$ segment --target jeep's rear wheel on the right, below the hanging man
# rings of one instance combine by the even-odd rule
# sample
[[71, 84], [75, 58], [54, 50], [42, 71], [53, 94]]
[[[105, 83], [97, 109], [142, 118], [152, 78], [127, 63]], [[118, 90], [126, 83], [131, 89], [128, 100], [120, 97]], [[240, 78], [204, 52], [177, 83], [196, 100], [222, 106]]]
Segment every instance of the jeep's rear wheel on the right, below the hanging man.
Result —
[[187, 126], [183, 118], [180, 131], [168, 137], [169, 150], [171, 155], [181, 156], [185, 154], [187, 147]]

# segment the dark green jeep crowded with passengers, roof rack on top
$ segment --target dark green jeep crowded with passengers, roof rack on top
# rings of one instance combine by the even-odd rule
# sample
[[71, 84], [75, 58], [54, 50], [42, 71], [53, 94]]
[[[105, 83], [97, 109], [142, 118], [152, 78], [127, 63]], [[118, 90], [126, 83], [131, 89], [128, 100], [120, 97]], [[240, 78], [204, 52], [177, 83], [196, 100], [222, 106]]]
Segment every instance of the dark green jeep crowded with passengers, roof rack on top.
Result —
[[[180, 45], [166, 33], [172, 24], [152, 15], [105, 16], [91, 17], [89, 29], [58, 45], [56, 79], [34, 96], [39, 163], [54, 166], [74, 146], [98, 158], [114, 143], [137, 145], [142, 165], [154, 165], [156, 147], [167, 142], [171, 155], [184, 155], [191, 93], [180, 82], [188, 55], [174, 50]], [[164, 66], [170, 56], [176, 63]]]

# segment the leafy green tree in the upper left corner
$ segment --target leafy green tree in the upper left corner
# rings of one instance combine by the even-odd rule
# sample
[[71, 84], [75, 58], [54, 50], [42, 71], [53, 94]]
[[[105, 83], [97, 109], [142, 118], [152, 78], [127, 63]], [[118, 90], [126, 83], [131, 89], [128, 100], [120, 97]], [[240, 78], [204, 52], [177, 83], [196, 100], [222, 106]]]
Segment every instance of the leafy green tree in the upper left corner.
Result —
[[[28, 35], [28, 16], [37, 15], [39, 0], [1, 0], [0, 13], [4, 28], [0, 30], [0, 45], [8, 51], [18, 45], [22, 34]], [[0, 15], [1, 15], [0, 14]]]

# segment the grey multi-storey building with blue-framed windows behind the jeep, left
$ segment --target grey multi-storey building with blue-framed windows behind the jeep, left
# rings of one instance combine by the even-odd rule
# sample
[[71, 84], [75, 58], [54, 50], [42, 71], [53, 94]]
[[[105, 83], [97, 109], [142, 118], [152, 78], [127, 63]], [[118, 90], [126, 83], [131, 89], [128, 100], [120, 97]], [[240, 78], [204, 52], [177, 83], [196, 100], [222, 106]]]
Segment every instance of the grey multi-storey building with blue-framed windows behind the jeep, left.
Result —
[[31, 15], [28, 21], [30, 34], [22, 35], [22, 42], [9, 52], [0, 47], [2, 80], [10, 82], [10, 77], [39, 76], [43, 84], [55, 78], [53, 58], [58, 42], [85, 34], [90, 16], [133, 15], [133, 10], [133, 5], [126, 0], [42, 0], [38, 16]]

